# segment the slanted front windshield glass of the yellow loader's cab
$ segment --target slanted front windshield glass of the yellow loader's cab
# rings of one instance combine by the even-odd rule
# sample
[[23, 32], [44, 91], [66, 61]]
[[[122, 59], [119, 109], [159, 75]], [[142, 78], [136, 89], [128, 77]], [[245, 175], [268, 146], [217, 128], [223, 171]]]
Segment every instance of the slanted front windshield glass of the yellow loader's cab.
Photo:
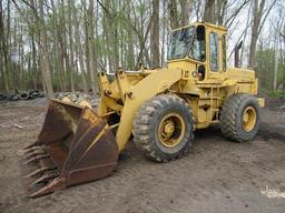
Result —
[[183, 28], [173, 32], [168, 45], [167, 60], [185, 58], [195, 32], [195, 27]]

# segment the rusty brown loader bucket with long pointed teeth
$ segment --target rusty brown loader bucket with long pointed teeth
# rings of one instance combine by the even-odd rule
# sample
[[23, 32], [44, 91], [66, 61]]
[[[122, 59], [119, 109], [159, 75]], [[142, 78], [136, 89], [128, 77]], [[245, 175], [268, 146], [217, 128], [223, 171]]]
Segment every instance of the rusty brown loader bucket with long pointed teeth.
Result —
[[20, 151], [30, 197], [105, 178], [115, 169], [118, 146], [92, 109], [51, 100], [38, 140]]

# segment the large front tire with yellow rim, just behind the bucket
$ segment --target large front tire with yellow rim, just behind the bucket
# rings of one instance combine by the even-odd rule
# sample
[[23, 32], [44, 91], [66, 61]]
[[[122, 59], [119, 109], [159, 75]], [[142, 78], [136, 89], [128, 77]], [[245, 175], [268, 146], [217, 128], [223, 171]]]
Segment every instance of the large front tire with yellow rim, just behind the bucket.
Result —
[[167, 162], [185, 154], [193, 140], [193, 116], [180, 98], [161, 94], [147, 101], [134, 121], [134, 141], [151, 160]]

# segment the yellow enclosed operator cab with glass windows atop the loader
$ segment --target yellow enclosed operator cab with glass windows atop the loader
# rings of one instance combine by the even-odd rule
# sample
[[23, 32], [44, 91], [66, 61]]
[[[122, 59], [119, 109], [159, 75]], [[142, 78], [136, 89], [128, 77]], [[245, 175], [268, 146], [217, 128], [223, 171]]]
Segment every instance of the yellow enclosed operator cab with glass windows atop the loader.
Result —
[[226, 29], [195, 23], [174, 30], [167, 63], [168, 68], [189, 70], [199, 81], [220, 78], [226, 71]]

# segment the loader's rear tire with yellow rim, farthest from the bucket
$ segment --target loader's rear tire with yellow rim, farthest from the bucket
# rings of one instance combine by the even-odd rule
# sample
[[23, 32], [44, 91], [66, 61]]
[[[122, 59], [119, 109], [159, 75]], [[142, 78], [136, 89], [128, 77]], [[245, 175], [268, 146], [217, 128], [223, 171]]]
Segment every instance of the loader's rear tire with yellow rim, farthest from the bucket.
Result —
[[261, 108], [255, 97], [238, 93], [225, 101], [219, 124], [227, 139], [236, 142], [250, 141], [256, 136], [259, 123]]

